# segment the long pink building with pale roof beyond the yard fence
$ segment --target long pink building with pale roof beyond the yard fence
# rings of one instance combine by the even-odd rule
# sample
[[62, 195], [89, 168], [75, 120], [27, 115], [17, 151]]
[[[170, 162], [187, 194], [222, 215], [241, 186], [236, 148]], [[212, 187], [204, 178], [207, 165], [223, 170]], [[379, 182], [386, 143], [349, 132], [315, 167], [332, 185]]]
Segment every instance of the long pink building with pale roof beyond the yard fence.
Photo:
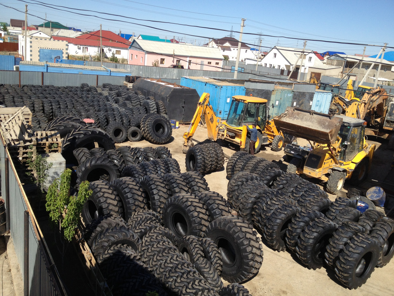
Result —
[[223, 55], [212, 47], [134, 39], [129, 47], [128, 64], [221, 71]]

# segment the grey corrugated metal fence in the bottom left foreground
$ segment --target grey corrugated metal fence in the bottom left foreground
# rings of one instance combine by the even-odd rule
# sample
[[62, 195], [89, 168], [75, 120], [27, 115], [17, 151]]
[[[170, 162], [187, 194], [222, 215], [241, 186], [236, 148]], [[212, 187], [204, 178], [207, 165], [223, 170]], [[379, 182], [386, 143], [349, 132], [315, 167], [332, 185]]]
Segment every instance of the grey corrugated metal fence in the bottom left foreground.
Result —
[[[15, 253], [19, 263], [24, 287], [28, 285], [27, 295], [67, 295], [61, 288], [60, 280], [54, 262], [50, 259], [48, 249], [44, 245], [39, 225], [33, 215], [22, 184], [17, 176], [15, 167], [4, 143], [0, 141], [0, 176], [2, 197], [6, 200], [6, 208], [9, 209], [9, 226]], [[6, 167], [6, 163], [8, 163]], [[8, 174], [7, 174], [8, 172]], [[8, 184], [6, 184], [6, 174]], [[9, 187], [9, 196], [6, 196], [6, 186]], [[7, 200], [9, 199], [9, 204]], [[27, 219], [27, 225], [25, 224]], [[25, 227], [25, 225], [27, 227]], [[28, 236], [28, 244], [24, 238]], [[28, 274], [26, 273], [24, 250], [28, 248]], [[26, 278], [28, 275], [28, 278]], [[26, 291], [25, 291], [26, 292]]]

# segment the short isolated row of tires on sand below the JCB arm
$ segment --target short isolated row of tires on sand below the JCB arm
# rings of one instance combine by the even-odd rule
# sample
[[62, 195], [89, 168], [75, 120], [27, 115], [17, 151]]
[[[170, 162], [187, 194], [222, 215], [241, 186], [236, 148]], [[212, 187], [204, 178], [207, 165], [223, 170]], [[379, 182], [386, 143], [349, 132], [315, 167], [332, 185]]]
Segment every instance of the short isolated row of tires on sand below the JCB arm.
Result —
[[223, 169], [224, 152], [215, 142], [197, 144], [186, 153], [186, 170], [201, 174]]

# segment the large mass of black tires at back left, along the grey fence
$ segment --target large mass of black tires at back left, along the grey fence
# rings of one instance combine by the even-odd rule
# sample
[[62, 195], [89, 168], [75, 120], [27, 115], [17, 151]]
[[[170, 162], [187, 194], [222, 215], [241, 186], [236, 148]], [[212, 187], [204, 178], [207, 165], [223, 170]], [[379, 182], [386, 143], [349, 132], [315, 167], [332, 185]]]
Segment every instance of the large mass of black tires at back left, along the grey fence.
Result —
[[[56, 119], [59, 117], [90, 118], [94, 120], [93, 127], [107, 131], [115, 142], [124, 142], [127, 137], [134, 142], [141, 140], [143, 134], [141, 120], [146, 114], [167, 118], [164, 102], [156, 101], [153, 97], [145, 97], [141, 92], [134, 92], [126, 86], [108, 83], [102, 86], [89, 86], [82, 83], [80, 87], [52, 85], [19, 87], [16, 84], [1, 84], [0, 104], [6, 107], [28, 107], [33, 114], [32, 128], [38, 131], [56, 130], [56, 127], [64, 131], [70, 127], [67, 118], [63, 118], [65, 124], [59, 125], [59, 120]], [[58, 125], [51, 124], [52, 120]], [[158, 121], [165, 122], [162, 124], [167, 127], [167, 120]], [[74, 123], [79, 122], [74, 121]], [[160, 139], [160, 141], [156, 139], [155, 144], [164, 144], [172, 133], [170, 124], [169, 128], [160, 131], [157, 124], [152, 126], [152, 120], [148, 122], [146, 129], [148, 141], [157, 137]]]

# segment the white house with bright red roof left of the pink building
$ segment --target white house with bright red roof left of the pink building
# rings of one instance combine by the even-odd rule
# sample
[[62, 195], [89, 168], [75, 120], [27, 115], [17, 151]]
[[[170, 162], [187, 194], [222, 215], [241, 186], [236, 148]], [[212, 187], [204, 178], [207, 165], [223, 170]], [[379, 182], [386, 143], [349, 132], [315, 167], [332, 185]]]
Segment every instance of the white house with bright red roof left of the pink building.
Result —
[[[68, 54], [71, 55], [93, 56], [97, 53], [100, 54], [100, 30], [85, 33], [75, 38], [52, 36], [52, 39], [67, 41], [69, 45]], [[127, 59], [130, 41], [111, 31], [106, 30], [101, 31], [101, 39], [102, 52], [104, 57], [110, 58], [112, 56], [112, 53], [115, 53], [115, 56], [117, 58]]]

